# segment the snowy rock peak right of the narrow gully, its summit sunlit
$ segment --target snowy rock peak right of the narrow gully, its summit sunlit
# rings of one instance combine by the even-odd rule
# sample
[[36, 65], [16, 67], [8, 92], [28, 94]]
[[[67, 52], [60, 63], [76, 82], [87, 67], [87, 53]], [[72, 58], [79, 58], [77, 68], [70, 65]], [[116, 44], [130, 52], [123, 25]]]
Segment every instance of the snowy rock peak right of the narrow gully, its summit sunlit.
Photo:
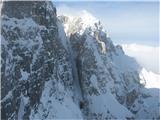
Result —
[[[85, 109], [89, 111], [86, 116], [92, 119], [159, 117], [159, 89], [155, 92], [144, 88], [141, 82], [146, 79], [141, 76], [147, 77], [148, 73], [141, 72], [143, 68], [133, 58], [126, 56], [120, 46], [112, 44], [95, 17], [83, 12], [79, 17], [64, 15], [59, 19], [64, 24], [76, 56], [87, 104]], [[107, 102], [108, 99], [112, 102]], [[148, 104], [148, 100], [152, 104]], [[108, 103], [115, 106], [114, 111]], [[149, 109], [152, 105], [153, 109]], [[115, 111], [116, 108], [120, 110]], [[125, 112], [119, 114], [120, 111]]]

